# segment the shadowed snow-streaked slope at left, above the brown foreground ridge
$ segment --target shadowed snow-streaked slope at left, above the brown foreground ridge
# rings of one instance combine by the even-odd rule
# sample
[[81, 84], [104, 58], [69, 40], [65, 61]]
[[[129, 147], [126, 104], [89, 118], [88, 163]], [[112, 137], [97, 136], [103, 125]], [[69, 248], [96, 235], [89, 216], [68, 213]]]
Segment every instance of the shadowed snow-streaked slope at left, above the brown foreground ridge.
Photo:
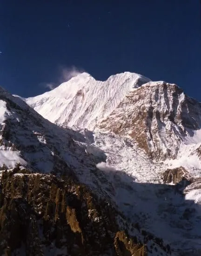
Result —
[[[74, 152], [77, 154], [74, 154]], [[20, 98], [0, 88], [0, 166], [21, 163], [42, 173], [79, 172], [84, 148], [62, 128], [43, 119]], [[87, 166], [88, 169], [88, 166]]]

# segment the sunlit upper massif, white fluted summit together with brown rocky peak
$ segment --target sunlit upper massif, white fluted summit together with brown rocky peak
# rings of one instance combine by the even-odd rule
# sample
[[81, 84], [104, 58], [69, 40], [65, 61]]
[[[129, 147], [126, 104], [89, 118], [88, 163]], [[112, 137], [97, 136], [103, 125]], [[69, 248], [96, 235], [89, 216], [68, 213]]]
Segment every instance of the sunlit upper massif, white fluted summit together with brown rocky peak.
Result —
[[131, 136], [153, 158], [175, 158], [185, 137], [201, 128], [201, 103], [175, 84], [130, 72], [112, 75], [107, 81], [79, 74], [26, 101], [62, 126]]

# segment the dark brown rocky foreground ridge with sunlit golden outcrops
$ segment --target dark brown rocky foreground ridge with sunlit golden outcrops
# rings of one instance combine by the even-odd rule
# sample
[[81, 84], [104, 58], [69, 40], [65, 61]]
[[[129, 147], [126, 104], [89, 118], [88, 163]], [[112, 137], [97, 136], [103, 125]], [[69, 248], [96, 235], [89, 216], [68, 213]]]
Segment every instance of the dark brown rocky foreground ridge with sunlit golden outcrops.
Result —
[[[133, 225], [133, 237], [120, 230], [120, 213], [72, 179], [17, 167], [2, 173], [0, 191], [0, 255], [147, 256], [140, 227]], [[161, 239], [142, 234], [169, 255]]]

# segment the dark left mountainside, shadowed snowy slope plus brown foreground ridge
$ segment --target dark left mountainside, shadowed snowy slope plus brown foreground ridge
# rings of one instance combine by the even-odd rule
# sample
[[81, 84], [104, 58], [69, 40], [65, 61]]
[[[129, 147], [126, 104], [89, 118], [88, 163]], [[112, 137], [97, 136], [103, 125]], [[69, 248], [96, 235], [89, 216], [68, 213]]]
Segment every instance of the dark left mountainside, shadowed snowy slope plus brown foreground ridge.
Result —
[[170, 255], [168, 244], [122, 213], [91, 137], [0, 88], [0, 255]]

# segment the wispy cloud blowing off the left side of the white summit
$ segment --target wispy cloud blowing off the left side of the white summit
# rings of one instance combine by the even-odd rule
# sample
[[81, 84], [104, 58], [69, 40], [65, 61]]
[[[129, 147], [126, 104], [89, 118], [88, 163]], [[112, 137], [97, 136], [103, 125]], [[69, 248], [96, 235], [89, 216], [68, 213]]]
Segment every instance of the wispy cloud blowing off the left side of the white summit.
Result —
[[85, 72], [84, 69], [77, 68], [77, 67], [59, 67], [59, 75], [57, 78], [57, 82], [48, 82], [48, 83], [40, 83], [45, 88], [48, 88], [50, 90], [55, 89], [58, 87], [61, 83], [69, 81], [71, 78], [77, 76], [78, 74], [81, 74]]

